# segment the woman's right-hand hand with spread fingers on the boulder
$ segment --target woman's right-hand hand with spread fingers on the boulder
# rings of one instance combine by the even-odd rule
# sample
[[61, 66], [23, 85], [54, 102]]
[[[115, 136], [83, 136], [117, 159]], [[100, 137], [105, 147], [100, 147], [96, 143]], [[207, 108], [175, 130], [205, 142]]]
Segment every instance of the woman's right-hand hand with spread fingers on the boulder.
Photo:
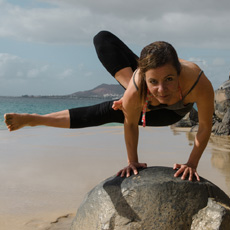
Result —
[[178, 177], [182, 174], [181, 179], [185, 180], [188, 176], [188, 179], [192, 181], [193, 175], [196, 177], [198, 181], [200, 181], [200, 177], [196, 171], [196, 168], [191, 167], [187, 164], [174, 164], [173, 169], [178, 169], [177, 172], [174, 174], [174, 177]]

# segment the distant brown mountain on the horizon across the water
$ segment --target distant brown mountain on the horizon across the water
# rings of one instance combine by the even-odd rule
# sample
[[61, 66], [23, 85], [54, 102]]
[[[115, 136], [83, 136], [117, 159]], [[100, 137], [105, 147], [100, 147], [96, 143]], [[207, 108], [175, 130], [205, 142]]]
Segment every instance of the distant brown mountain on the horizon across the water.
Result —
[[122, 97], [124, 91], [123, 87], [117, 84], [101, 84], [94, 89], [79, 91], [67, 96], [77, 98], [119, 98]]

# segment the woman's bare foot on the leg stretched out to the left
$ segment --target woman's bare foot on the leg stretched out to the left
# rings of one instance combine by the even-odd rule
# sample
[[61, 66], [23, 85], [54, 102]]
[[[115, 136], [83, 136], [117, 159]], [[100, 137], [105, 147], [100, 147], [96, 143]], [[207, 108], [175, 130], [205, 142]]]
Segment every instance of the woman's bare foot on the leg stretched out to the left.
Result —
[[15, 131], [24, 126], [33, 126], [31, 114], [7, 113], [4, 115], [5, 123], [9, 131]]

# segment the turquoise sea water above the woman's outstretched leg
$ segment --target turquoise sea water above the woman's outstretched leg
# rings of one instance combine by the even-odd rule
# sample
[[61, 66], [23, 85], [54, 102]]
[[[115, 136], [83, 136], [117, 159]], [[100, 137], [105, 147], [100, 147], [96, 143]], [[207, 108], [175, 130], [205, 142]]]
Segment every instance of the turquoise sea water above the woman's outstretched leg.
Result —
[[76, 98], [26, 98], [26, 97], [0, 97], [0, 129], [6, 129], [4, 123], [5, 113], [37, 113], [47, 114], [94, 105], [106, 101], [104, 99], [76, 99]]

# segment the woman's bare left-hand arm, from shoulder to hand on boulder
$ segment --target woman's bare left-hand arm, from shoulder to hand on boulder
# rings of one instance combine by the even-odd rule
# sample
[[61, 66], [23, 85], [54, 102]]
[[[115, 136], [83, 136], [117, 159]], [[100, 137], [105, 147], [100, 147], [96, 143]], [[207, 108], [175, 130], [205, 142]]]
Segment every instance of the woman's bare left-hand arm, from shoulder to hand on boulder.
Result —
[[122, 111], [124, 113], [124, 135], [128, 157], [128, 166], [120, 170], [117, 175], [124, 177], [130, 176], [131, 171], [138, 173], [138, 168], [147, 167], [144, 163], [138, 161], [138, 122], [141, 115], [141, 100], [139, 93], [133, 84], [129, 84], [122, 100]]

